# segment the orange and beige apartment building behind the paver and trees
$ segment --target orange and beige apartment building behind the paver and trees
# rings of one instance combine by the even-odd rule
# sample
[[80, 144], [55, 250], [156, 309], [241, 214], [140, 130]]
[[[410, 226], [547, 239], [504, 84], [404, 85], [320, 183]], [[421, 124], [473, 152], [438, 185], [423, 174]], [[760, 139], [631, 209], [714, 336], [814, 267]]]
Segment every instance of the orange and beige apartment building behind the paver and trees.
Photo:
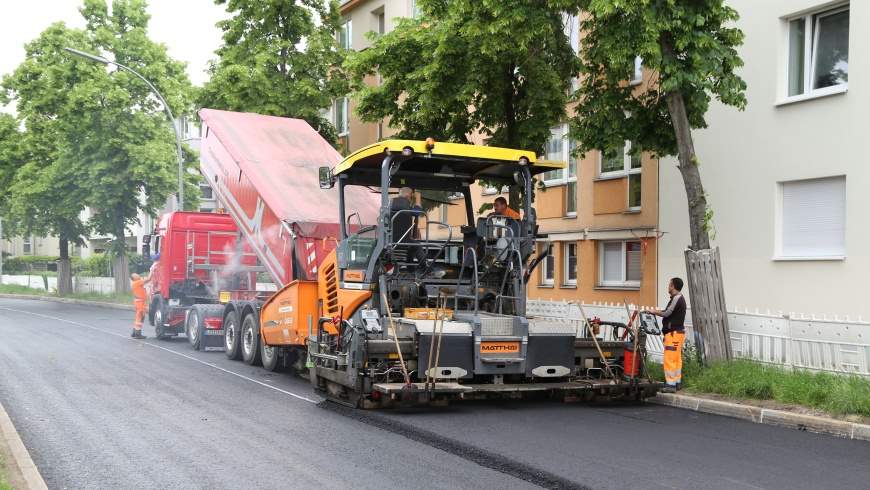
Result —
[[[343, 23], [339, 41], [349, 49], [369, 46], [365, 34], [393, 29], [396, 17], [416, 15], [413, 0], [351, 0], [341, 5]], [[566, 34], [575, 49], [580, 33], [576, 18], [566, 18]], [[377, 83], [376, 79], [369, 83]], [[643, 69], [636, 63], [632, 80], [643, 90]], [[571, 108], [569, 107], [569, 113]], [[354, 102], [339, 99], [331, 115], [342, 135], [346, 152], [389, 137], [387, 124], [362, 123], [354, 116]], [[631, 143], [604, 158], [593, 152], [572, 157], [574, 142], [567, 124], [552, 128], [541, 158], [569, 162], [565, 170], [543, 176], [545, 191], [538, 191], [535, 207], [540, 231], [538, 244], [552, 254], [538, 266], [530, 282], [529, 297], [571, 301], [610, 301], [655, 304], [657, 298], [658, 162], [646, 154], [632, 157]], [[492, 202], [499, 189], [475, 187], [475, 203]], [[432, 219], [452, 226], [463, 224], [462, 199], [443, 205]]]

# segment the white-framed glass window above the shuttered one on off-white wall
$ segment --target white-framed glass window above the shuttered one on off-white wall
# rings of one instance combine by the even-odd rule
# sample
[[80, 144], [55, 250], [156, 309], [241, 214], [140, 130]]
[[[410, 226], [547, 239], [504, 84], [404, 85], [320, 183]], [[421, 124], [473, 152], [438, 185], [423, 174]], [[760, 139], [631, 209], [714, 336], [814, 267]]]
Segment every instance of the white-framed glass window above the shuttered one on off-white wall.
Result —
[[789, 97], [842, 91], [849, 82], [849, 4], [788, 20]]

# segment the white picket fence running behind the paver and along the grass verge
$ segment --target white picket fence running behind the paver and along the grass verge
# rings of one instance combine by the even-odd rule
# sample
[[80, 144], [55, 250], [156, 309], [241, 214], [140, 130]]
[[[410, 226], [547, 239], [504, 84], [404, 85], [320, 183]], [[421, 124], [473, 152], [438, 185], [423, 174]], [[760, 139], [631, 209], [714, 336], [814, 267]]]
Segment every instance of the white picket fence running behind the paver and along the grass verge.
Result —
[[[629, 305], [633, 311], [635, 306]], [[626, 322], [625, 306], [613, 303], [584, 304], [590, 317]], [[642, 306], [641, 309], [650, 309]], [[579, 306], [557, 301], [529, 300], [530, 316], [565, 322], [581, 321]], [[691, 311], [686, 315], [686, 339], [693, 342]], [[815, 318], [749, 311], [728, 313], [731, 348], [735, 357], [795, 369], [870, 376], [870, 322], [841, 318]], [[610, 337], [610, 329], [602, 331]], [[660, 361], [661, 337], [647, 337], [650, 358]]]

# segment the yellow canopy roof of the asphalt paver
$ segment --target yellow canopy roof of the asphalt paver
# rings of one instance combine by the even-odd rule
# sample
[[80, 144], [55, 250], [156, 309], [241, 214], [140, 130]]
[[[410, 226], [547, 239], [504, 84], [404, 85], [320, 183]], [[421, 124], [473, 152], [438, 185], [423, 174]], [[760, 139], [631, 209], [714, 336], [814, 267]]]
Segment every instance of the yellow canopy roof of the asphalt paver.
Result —
[[414, 154], [404, 161], [399, 173], [407, 170], [417, 173], [440, 174], [439, 176], [455, 173], [470, 176], [475, 180], [512, 179], [514, 171], [520, 165], [521, 158], [528, 160], [529, 171], [532, 175], [563, 169], [567, 166], [565, 162], [538, 160], [534, 152], [526, 150], [436, 142], [430, 156], [425, 141], [386, 140], [350, 154], [335, 168], [335, 175], [354, 173], [355, 170], [368, 173], [380, 169], [387, 151], [401, 155], [402, 150], [406, 148], [413, 150]]

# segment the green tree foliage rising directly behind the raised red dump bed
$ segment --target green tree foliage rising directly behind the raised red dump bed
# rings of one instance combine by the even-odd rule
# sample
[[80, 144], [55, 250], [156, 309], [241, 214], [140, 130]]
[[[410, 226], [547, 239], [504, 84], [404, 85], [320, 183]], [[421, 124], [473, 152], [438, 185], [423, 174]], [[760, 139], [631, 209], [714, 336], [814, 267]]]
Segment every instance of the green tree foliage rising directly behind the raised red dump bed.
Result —
[[200, 107], [306, 120], [329, 142], [335, 128], [322, 115], [347, 92], [335, 39], [338, 3], [215, 0], [233, 16], [218, 23], [224, 44], [209, 68]]

